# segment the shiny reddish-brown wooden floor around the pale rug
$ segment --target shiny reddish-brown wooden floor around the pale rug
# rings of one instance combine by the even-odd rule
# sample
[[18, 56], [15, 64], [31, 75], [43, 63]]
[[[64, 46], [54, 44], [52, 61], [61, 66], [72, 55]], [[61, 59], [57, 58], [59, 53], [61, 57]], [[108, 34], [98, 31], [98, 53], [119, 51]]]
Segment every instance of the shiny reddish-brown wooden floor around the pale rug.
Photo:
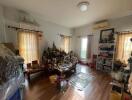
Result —
[[31, 81], [30, 84], [25, 82], [24, 100], [109, 100], [111, 90], [109, 75], [79, 64], [77, 72], [94, 76], [84, 91], [69, 86], [66, 92], [60, 93], [48, 78], [41, 76]]

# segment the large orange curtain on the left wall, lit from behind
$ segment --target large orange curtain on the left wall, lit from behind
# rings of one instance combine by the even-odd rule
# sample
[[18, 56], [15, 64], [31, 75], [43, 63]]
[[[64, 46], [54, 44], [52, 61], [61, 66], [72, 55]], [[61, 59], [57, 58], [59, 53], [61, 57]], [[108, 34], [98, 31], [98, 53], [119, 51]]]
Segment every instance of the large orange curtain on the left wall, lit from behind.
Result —
[[39, 60], [38, 57], [38, 37], [37, 33], [19, 32], [19, 52], [24, 58], [25, 63], [31, 63], [33, 60]]

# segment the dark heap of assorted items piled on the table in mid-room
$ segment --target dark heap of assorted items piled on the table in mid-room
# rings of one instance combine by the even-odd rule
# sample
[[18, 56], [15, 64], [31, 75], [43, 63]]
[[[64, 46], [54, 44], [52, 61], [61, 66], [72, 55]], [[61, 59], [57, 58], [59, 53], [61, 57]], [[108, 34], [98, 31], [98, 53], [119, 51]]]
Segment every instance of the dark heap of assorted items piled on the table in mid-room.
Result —
[[59, 50], [53, 44], [52, 48], [44, 50], [42, 55], [42, 64], [45, 66], [46, 74], [62, 74], [69, 71], [76, 72], [78, 58], [71, 51], [68, 54]]

